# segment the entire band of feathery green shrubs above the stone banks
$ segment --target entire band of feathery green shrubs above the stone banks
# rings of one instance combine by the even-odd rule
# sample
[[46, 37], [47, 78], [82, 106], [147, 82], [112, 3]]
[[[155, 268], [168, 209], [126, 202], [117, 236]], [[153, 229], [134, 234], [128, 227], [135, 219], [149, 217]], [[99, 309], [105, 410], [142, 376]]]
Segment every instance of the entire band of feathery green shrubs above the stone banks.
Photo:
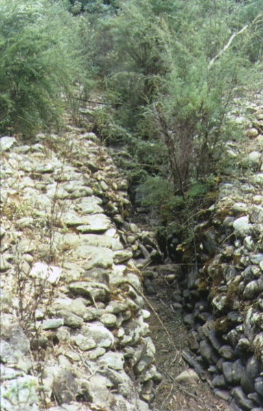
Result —
[[131, 185], [165, 221], [189, 221], [229, 166], [227, 143], [242, 138], [234, 98], [262, 86], [262, 5], [1, 0], [1, 132], [32, 134], [65, 108], [86, 127], [88, 84], [107, 102], [88, 127], [121, 146]]

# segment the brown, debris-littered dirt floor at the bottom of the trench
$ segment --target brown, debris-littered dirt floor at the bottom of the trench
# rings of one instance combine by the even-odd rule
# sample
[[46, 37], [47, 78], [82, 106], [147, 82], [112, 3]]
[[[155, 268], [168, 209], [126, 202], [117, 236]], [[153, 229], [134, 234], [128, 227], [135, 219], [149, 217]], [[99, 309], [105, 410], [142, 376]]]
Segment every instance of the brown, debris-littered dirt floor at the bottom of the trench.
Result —
[[[202, 377], [195, 385], [179, 384], [175, 378], [181, 371], [190, 369], [182, 358], [182, 351], [190, 353], [187, 347], [187, 329], [178, 310], [173, 310], [169, 294], [174, 284], [166, 284], [162, 278], [155, 282], [157, 295], [147, 297], [151, 317], [148, 320], [151, 338], [156, 347], [156, 366], [163, 379], [156, 389], [151, 403], [153, 411], [229, 411], [228, 404], [215, 397]], [[153, 312], [153, 310], [155, 312]], [[158, 316], [156, 316], [156, 314]], [[162, 322], [162, 323], [161, 323]], [[168, 334], [171, 336], [170, 340]], [[190, 353], [192, 356], [192, 353]]]

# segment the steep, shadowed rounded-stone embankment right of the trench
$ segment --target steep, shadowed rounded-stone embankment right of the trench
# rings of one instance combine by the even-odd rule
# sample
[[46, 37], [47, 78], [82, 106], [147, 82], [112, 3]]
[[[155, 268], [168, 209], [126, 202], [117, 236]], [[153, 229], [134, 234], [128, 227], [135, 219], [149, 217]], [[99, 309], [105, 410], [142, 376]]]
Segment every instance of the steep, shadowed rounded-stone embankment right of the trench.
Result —
[[251, 121], [237, 120], [251, 140], [228, 147], [239, 176], [221, 184], [196, 227], [195, 264], [174, 296], [192, 351], [234, 411], [263, 411], [263, 106], [249, 110]]

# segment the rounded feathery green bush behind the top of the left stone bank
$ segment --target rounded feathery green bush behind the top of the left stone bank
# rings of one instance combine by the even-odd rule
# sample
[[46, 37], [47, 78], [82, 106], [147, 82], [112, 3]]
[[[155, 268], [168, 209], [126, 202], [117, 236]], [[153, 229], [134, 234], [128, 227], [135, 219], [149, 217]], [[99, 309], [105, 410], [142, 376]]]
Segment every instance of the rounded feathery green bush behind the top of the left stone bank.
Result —
[[22, 134], [58, 123], [79, 79], [77, 31], [62, 2], [1, 1], [0, 128]]

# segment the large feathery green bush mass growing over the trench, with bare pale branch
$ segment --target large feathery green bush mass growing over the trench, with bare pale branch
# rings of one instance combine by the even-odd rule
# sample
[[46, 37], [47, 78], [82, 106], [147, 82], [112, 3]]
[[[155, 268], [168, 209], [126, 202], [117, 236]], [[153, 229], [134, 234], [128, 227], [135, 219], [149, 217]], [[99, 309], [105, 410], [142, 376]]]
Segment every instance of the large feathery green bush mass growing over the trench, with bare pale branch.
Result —
[[216, 182], [222, 173], [225, 143], [238, 136], [227, 116], [231, 103], [259, 86], [262, 5], [125, 0], [112, 15], [86, 17], [91, 60], [113, 107], [105, 110], [108, 127], [127, 130], [118, 138], [132, 158], [125, 167], [136, 182], [146, 178], [142, 191], [156, 208], [173, 214], [182, 201], [190, 212], [197, 197], [207, 199], [210, 176]]

